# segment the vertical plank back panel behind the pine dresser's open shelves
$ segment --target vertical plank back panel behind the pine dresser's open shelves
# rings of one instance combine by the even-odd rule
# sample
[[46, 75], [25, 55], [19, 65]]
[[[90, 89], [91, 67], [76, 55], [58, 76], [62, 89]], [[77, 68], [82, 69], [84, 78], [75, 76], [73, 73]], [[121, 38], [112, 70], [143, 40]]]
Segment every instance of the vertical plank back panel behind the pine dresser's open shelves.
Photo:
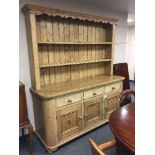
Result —
[[[71, 42], [85, 44], [38, 44], [41, 86], [52, 85], [85, 77], [110, 74], [112, 27], [101, 23], [40, 15], [36, 18], [38, 42]], [[109, 28], [110, 27], [110, 28]], [[110, 35], [110, 37], [109, 37]], [[84, 63], [91, 61], [92, 63]], [[94, 61], [94, 62], [93, 62]], [[65, 65], [74, 63], [73, 65]], [[77, 63], [77, 64], [75, 64]], [[41, 67], [55, 65], [52, 67]]]

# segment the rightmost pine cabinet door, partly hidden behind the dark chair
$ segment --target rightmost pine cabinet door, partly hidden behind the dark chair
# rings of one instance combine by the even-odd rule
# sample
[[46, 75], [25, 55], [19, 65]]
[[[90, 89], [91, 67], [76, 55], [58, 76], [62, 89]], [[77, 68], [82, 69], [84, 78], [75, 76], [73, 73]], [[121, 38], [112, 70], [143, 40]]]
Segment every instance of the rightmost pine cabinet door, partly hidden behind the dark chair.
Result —
[[104, 96], [105, 118], [109, 118], [110, 114], [119, 107], [119, 94], [120, 92], [105, 94]]

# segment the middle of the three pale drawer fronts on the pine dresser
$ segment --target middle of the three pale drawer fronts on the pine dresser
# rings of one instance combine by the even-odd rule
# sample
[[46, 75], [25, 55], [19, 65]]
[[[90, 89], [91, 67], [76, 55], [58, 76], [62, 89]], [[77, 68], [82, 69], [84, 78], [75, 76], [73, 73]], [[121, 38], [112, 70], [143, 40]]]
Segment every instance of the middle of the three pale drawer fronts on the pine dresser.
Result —
[[104, 93], [104, 87], [89, 90], [84, 92], [84, 99], [88, 99], [94, 96], [102, 95]]

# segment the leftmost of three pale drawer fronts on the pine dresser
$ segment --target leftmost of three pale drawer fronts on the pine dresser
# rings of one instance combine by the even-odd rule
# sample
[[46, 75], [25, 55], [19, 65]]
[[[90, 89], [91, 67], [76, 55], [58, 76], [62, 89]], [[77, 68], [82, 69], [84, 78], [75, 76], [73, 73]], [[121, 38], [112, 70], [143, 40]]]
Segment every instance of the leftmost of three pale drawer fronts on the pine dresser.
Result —
[[56, 108], [63, 107], [68, 104], [72, 104], [75, 102], [81, 101], [81, 93], [65, 96], [56, 99]]

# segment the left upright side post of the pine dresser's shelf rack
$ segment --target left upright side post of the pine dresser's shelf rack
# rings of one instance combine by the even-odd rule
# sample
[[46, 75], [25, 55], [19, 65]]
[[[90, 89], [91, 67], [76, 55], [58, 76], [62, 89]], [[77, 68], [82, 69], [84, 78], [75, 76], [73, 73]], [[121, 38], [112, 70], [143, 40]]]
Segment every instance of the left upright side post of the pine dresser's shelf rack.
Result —
[[37, 32], [36, 32], [36, 16], [34, 14], [25, 14], [28, 54], [30, 63], [31, 86], [34, 89], [40, 89], [40, 70], [39, 70], [39, 56], [37, 46]]

